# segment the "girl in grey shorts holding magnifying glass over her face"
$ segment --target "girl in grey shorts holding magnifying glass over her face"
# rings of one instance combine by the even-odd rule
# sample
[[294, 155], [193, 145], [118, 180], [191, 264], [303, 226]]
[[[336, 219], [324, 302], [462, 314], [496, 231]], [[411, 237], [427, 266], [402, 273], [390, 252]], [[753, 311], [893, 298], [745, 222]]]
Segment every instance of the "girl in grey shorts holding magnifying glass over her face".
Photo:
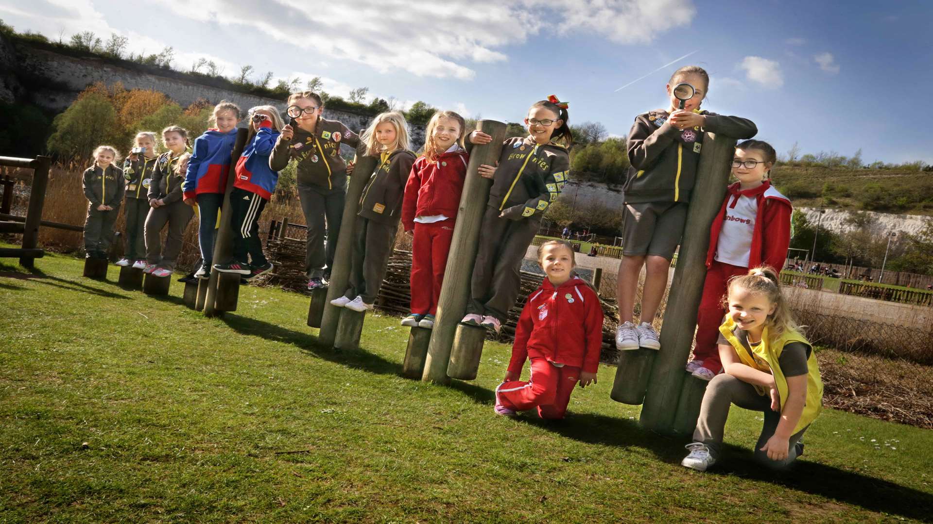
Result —
[[[693, 96], [678, 109], [674, 89], [693, 87]], [[733, 138], [751, 138], [758, 132], [746, 118], [723, 117], [700, 109], [709, 76], [702, 67], [688, 65], [674, 72], [666, 90], [667, 109], [635, 117], [627, 146], [631, 162], [625, 181], [622, 261], [619, 265], [619, 329], [616, 348], [661, 349], [651, 323], [661, 305], [667, 274], [687, 219], [687, 205], [703, 147], [703, 131]], [[634, 324], [638, 275], [645, 267], [640, 324]]]

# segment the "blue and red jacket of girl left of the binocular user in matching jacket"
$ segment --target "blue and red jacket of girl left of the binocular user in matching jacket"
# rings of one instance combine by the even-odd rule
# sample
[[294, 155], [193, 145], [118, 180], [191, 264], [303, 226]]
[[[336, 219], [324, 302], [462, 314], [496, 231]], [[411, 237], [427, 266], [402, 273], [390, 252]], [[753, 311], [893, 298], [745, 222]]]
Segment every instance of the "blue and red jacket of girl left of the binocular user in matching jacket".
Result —
[[188, 159], [188, 172], [181, 186], [186, 200], [201, 193], [223, 193], [227, 189], [236, 132], [236, 128], [230, 132], [210, 129], [194, 140], [194, 151]]

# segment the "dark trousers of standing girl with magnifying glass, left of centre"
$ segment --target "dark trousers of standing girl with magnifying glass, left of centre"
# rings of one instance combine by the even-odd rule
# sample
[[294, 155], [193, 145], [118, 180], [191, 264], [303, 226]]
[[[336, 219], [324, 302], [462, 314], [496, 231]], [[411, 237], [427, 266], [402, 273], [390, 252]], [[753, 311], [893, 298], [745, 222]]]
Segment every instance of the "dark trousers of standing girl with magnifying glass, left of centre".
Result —
[[[299, 184], [298, 194], [304, 222], [308, 225], [304, 270], [309, 277], [321, 277], [325, 273], [325, 267], [329, 273], [334, 265], [334, 252], [337, 251], [337, 238], [341, 230], [346, 189], [327, 190]], [[325, 219], [327, 219], [327, 224], [325, 224]], [[327, 231], [327, 247], [324, 242], [325, 231]]]

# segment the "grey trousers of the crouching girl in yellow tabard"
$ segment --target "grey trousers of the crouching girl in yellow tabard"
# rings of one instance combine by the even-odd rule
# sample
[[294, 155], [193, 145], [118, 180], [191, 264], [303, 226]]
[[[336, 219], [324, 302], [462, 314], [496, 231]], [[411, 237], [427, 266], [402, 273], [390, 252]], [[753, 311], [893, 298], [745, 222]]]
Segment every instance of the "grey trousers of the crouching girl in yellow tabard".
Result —
[[755, 386], [722, 373], [710, 380], [706, 386], [703, 404], [700, 407], [700, 418], [697, 419], [697, 427], [693, 431], [693, 441], [705, 444], [714, 459], [719, 458], [722, 450], [722, 434], [726, 428], [726, 418], [729, 417], [729, 408], [732, 404], [764, 414], [764, 426], [761, 428], [758, 443], [755, 444], [755, 458], [759, 462], [774, 469], [783, 469], [800, 455], [800, 447], [797, 443], [800, 442], [807, 428], [790, 435], [787, 459], [772, 461], [768, 458], [766, 451], [761, 451], [777, 429], [781, 414], [772, 410], [771, 397], [759, 395], [755, 391]]

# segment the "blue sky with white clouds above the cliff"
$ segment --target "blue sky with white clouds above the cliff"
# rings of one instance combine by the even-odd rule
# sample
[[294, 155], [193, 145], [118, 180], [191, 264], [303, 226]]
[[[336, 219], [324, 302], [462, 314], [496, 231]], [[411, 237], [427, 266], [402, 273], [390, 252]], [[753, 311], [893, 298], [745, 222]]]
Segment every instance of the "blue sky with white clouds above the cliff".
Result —
[[321, 76], [331, 94], [368, 87], [465, 117], [521, 121], [556, 94], [572, 124], [618, 136], [666, 106], [677, 67], [697, 64], [712, 78], [703, 108], [751, 118], [779, 154], [798, 143], [933, 163], [933, 117], [912, 107], [933, 87], [930, 2], [0, 0], [0, 19], [52, 40], [93, 31], [128, 36], [132, 52], [172, 46], [177, 69], [250, 64], [254, 79]]

